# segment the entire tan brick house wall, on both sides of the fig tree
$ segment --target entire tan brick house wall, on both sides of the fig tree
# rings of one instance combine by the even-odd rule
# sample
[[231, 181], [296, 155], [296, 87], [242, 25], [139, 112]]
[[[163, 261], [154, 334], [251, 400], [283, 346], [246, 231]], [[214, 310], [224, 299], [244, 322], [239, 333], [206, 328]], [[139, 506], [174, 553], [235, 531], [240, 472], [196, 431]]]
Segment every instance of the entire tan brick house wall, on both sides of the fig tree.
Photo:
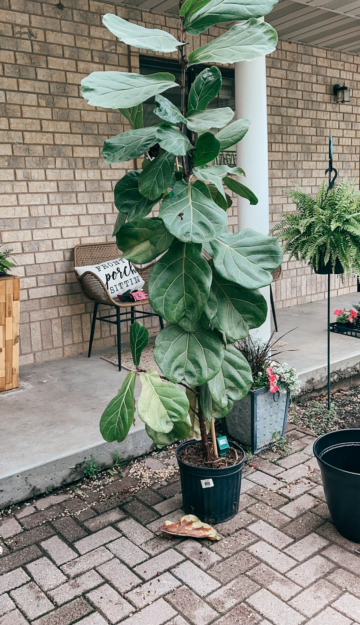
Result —
[[[27, 364], [87, 349], [92, 304], [79, 292], [72, 250], [111, 239], [117, 216], [112, 189], [132, 168], [107, 166], [100, 158], [104, 139], [128, 129], [126, 120], [87, 106], [79, 93], [91, 71], [139, 71], [137, 49], [116, 41], [101, 16], [114, 12], [170, 27], [174, 36], [178, 21], [91, 0], [64, 0], [64, 6], [0, 0], [0, 8], [0, 242], [13, 248], [21, 276], [21, 364]], [[216, 27], [194, 37], [194, 46], [221, 32]], [[340, 155], [341, 172], [358, 176], [358, 59], [287, 42], [267, 59], [273, 221], [291, 209], [282, 186], [297, 180], [314, 191], [323, 179], [329, 129], [334, 165]], [[353, 91], [351, 104], [339, 106], [331, 86], [343, 79]], [[236, 227], [236, 203], [229, 222]], [[350, 284], [334, 285], [334, 294], [354, 290]], [[285, 262], [275, 285], [277, 306], [319, 299], [324, 291], [324, 278], [294, 262]], [[150, 333], [157, 334], [155, 317], [152, 323]], [[110, 327], [97, 323], [95, 349], [115, 344]]]

